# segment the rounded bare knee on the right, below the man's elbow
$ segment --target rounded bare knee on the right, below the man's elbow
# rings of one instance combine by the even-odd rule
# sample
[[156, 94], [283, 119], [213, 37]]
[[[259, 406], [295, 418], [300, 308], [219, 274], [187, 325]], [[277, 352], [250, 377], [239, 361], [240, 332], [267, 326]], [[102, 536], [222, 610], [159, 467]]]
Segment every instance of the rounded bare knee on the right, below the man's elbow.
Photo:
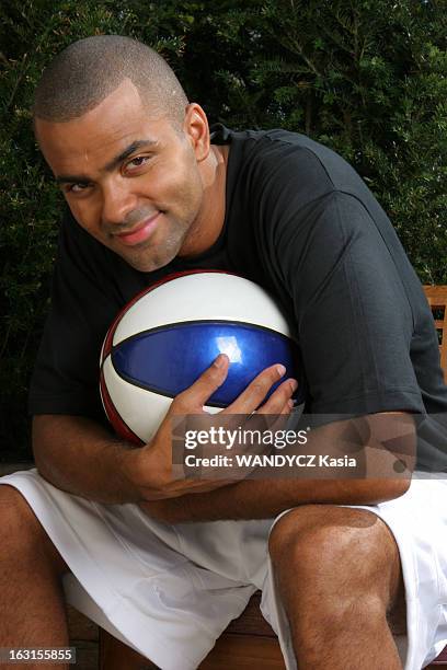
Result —
[[[373, 512], [330, 505], [307, 505], [285, 515], [270, 538], [274, 571], [301, 597], [362, 594], [382, 608], [392, 600], [400, 576], [399, 552], [387, 525]], [[340, 602], [340, 600], [339, 600]]]

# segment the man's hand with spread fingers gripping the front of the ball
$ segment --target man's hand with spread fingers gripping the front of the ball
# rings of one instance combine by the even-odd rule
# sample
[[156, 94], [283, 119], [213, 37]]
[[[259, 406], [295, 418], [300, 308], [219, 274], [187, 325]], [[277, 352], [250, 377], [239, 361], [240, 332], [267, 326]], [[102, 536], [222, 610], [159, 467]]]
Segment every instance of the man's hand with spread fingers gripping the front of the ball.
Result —
[[[135, 451], [130, 461], [128, 476], [140, 490], [141, 507], [144, 501], [175, 498], [185, 494], [214, 490], [228, 484], [227, 481], [211, 480], [174, 480], [172, 476], [172, 440], [171, 419], [175, 415], [205, 414], [203, 407], [213, 393], [224, 383], [228, 374], [229, 360], [220, 354], [214, 363], [197, 381], [179, 394], [164, 417], [153, 439]], [[222, 411], [222, 414], [286, 415], [293, 407], [291, 395], [297, 388], [296, 380], [287, 379], [272, 393], [262, 405], [266, 394], [285, 373], [283, 366], [276, 365], [261, 372], [241, 393], [241, 395]], [[148, 506], [149, 511], [150, 506]]]

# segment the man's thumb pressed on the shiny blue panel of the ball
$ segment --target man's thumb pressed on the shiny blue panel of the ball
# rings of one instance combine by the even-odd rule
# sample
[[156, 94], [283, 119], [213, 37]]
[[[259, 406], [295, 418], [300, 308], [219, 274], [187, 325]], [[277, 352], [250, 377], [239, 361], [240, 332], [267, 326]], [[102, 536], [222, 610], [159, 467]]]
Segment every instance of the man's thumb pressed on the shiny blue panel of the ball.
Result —
[[228, 374], [229, 359], [226, 354], [219, 354], [211, 366], [186, 391], [180, 393], [171, 408], [174, 413], [200, 413], [206, 401], [225, 382]]

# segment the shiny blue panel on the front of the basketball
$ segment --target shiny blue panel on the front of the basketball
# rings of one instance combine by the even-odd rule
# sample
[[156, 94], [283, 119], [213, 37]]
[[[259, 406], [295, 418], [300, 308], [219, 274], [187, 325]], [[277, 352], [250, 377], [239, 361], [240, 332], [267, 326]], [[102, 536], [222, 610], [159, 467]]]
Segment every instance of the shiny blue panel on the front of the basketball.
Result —
[[228, 377], [207, 403], [226, 407], [273, 363], [286, 366], [283, 379], [296, 378], [294, 349], [291, 340], [266, 328], [196, 322], [135, 335], [114, 347], [112, 360], [126, 380], [173, 397], [191, 386], [219, 354], [227, 354], [231, 363]]

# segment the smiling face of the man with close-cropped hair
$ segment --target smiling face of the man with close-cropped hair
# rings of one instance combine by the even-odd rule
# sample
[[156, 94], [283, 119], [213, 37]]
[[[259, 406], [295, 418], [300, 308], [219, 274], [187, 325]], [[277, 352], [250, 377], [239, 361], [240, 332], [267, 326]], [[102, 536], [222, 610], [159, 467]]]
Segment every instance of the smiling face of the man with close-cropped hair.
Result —
[[133, 267], [151, 272], [184, 245], [204, 196], [200, 150], [150, 115], [126, 80], [94, 109], [65, 123], [36, 119], [42, 151], [78, 223]]

